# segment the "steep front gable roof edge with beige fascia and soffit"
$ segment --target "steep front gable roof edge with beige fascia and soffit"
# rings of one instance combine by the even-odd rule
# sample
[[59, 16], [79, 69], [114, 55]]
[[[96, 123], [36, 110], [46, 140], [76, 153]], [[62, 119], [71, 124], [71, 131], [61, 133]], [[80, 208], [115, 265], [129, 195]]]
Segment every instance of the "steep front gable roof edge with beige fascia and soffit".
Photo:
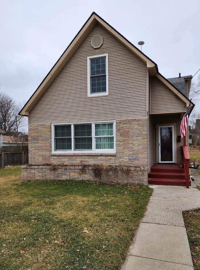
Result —
[[[141, 60], [143, 60], [143, 62], [147, 64], [147, 69], [149, 70], [150, 75], [158, 75], [158, 77], [161, 76], [164, 79], [164, 80], [162, 79], [164, 84], [167, 85], [169, 83], [167, 79], [165, 79], [161, 74], [158, 73], [158, 66], [155, 62], [153, 62], [150, 58], [148, 58], [148, 56], [146, 56], [137, 47], [135, 47], [132, 43], [130, 43], [125, 37], [123, 37], [123, 35], [121, 35], [111, 25], [109, 25], [100, 16], [98, 16], [98, 14], [93, 12], [91, 16], [88, 18], [88, 20], [86, 21], [86, 23], [83, 25], [83, 27], [80, 29], [78, 34], [69, 44], [67, 49], [63, 52], [61, 57], [58, 59], [56, 64], [53, 66], [53, 68], [50, 70], [47, 76], [43, 79], [42, 83], [38, 86], [36, 91], [32, 94], [30, 99], [24, 105], [22, 110], [19, 112], [19, 115], [25, 115], [25, 116], [29, 115], [29, 111], [36, 104], [37, 100], [42, 96], [44, 91], [52, 83], [52, 81], [55, 79], [55, 77], [58, 75], [58, 73], [61, 71], [64, 65], [71, 58], [73, 53], [75, 53], [77, 48], [80, 46], [80, 44], [83, 42], [83, 40], [86, 38], [86, 36], [88, 35], [88, 33], [91, 31], [91, 29], [94, 27], [96, 23], [99, 23], [101, 26], [103, 26], [109, 33], [111, 33], [115, 38], [117, 38], [121, 43], [123, 43], [127, 48], [129, 48], [134, 54], [136, 54]], [[173, 92], [177, 92], [178, 90], [176, 87], [173, 86], [173, 84], [170, 85], [169, 89], [171, 89]], [[187, 97], [185, 97], [184, 95], [180, 98], [182, 98], [183, 101], [186, 102], [186, 104], [189, 101]]]

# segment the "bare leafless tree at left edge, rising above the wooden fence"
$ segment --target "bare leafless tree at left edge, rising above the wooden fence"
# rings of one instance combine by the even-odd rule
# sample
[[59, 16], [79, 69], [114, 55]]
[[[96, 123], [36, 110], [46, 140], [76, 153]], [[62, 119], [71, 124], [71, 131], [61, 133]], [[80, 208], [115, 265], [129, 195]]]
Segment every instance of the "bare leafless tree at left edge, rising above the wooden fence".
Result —
[[0, 118], [4, 121], [0, 124], [0, 128], [9, 132], [18, 131], [19, 127], [23, 125], [24, 117], [18, 115], [20, 105], [17, 104], [9, 95], [0, 93]]

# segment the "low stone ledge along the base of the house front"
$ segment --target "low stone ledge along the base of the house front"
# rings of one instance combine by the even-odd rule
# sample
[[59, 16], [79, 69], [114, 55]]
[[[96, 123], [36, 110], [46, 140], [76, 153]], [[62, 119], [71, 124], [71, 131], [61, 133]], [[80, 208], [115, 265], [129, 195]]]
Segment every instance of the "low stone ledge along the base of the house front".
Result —
[[[95, 176], [96, 172], [96, 176]], [[22, 166], [22, 178], [42, 180], [85, 180], [103, 183], [147, 184], [147, 168], [116, 167], [95, 171], [93, 166]]]

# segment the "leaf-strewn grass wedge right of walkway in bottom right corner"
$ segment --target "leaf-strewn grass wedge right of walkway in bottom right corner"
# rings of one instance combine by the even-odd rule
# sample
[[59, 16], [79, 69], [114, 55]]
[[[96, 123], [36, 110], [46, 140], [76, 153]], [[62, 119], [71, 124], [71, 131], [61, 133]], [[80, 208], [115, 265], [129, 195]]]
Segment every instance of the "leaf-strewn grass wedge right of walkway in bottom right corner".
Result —
[[194, 269], [200, 270], [200, 209], [184, 211], [183, 219], [187, 230]]

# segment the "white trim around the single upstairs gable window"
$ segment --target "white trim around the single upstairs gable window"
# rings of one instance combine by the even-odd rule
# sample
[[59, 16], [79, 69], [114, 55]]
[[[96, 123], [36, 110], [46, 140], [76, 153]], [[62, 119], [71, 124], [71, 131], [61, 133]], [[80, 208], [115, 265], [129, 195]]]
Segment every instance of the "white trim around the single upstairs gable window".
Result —
[[[106, 57], [106, 92], [103, 93], [90, 93], [90, 59]], [[98, 54], [87, 57], [87, 69], [88, 69], [88, 97], [108, 96], [108, 53]]]

